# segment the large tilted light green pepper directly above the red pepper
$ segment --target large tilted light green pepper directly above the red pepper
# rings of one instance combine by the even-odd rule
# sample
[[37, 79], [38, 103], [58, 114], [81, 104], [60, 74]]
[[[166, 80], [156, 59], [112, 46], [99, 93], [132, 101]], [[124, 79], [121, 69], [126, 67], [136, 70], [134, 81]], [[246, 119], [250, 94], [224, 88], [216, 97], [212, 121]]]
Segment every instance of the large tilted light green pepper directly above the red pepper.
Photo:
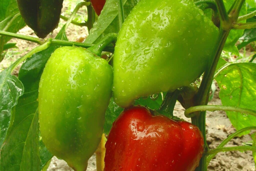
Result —
[[188, 86], [204, 72], [217, 34], [192, 0], [141, 0], [116, 42], [115, 102], [128, 107], [138, 97]]

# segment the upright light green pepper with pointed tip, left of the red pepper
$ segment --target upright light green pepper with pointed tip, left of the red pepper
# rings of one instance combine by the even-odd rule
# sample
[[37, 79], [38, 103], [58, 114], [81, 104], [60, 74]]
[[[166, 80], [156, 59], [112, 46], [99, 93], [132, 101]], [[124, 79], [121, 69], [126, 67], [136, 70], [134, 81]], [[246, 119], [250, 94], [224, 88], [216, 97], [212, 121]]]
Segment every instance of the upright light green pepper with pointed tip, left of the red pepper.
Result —
[[81, 47], [61, 47], [49, 58], [39, 83], [42, 140], [55, 156], [84, 171], [101, 140], [112, 96], [112, 67]]

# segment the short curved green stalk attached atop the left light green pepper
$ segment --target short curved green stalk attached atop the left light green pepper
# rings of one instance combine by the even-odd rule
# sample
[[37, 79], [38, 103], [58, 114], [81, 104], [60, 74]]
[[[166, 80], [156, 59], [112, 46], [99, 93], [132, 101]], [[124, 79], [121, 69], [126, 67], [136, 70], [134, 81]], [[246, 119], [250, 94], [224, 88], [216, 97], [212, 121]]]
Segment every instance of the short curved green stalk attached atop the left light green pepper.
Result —
[[99, 43], [89, 47], [87, 50], [91, 51], [97, 56], [101, 56], [101, 52], [105, 49], [105, 47], [111, 42], [116, 41], [116, 38], [116, 33], [109, 33]]

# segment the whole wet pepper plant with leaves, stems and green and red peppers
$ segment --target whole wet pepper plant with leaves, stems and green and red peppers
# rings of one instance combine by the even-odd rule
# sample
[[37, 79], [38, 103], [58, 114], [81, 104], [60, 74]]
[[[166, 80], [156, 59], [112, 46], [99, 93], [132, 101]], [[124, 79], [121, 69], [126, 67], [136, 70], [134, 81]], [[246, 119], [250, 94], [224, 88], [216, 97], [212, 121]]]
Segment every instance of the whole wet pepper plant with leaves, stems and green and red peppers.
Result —
[[[221, 57], [255, 44], [253, 0], [86, 0], [69, 18], [62, 2], [0, 2], [1, 61], [12, 37], [39, 44], [0, 73], [0, 170], [46, 170], [55, 155], [83, 171], [95, 152], [99, 171], [204, 171], [219, 152], [255, 153], [255, 134], [225, 145], [256, 130], [256, 55]], [[82, 6], [87, 20], [73, 21]], [[45, 37], [59, 18], [67, 23], [54, 39], [17, 34], [28, 25]], [[71, 23], [88, 28], [84, 42], [68, 40]], [[207, 105], [214, 80], [222, 105]], [[191, 123], [173, 115], [177, 100]], [[214, 110], [237, 132], [209, 149]]]

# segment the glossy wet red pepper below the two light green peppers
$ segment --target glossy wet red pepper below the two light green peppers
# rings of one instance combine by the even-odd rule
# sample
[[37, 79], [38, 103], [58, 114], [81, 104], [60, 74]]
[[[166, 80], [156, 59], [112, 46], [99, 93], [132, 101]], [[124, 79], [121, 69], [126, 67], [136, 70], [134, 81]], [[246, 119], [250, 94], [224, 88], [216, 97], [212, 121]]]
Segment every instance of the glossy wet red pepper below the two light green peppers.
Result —
[[124, 110], [105, 144], [105, 171], [193, 171], [204, 151], [200, 130], [185, 121]]

